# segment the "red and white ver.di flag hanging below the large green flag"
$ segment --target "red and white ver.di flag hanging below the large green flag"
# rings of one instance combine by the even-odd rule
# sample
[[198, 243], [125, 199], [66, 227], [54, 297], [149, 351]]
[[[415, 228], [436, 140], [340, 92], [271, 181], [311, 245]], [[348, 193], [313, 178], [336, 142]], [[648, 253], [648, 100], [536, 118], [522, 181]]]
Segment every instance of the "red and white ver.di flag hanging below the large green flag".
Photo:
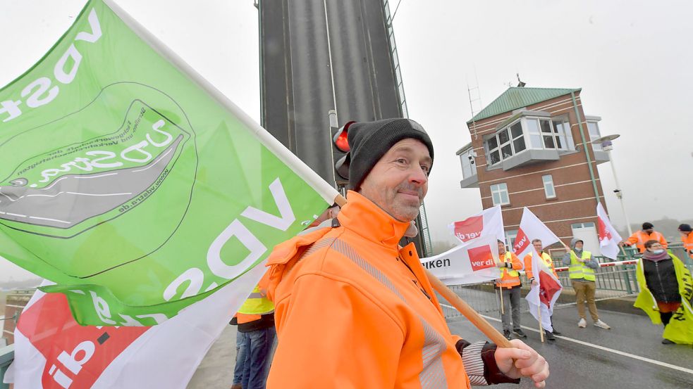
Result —
[[[36, 291], [15, 330], [15, 389], [185, 388], [265, 267], [157, 326], [79, 326], [59, 293]], [[233, 369], [229, 366], [228, 369]]]

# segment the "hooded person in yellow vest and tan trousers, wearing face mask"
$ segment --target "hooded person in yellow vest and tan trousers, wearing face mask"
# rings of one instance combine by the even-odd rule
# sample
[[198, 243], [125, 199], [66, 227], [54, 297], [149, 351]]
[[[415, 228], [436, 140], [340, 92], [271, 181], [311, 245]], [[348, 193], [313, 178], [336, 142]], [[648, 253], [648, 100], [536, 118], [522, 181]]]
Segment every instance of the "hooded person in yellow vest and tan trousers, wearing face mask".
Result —
[[599, 319], [599, 314], [596, 312], [596, 304], [594, 303], [594, 293], [596, 292], [596, 276], [594, 271], [599, 267], [592, 253], [583, 250], [584, 242], [581, 239], [573, 238], [570, 241], [570, 246], [563, 245], [566, 253], [563, 255], [563, 264], [568, 266], [568, 274], [570, 274], [570, 282], [572, 288], [575, 289], [575, 298], [577, 298], [577, 314], [580, 320], [577, 326], [581, 329], [587, 327], [587, 319], [584, 314], [584, 301], [587, 300], [587, 308], [589, 315], [594, 320], [594, 326], [600, 329], [611, 329], [608, 324]]

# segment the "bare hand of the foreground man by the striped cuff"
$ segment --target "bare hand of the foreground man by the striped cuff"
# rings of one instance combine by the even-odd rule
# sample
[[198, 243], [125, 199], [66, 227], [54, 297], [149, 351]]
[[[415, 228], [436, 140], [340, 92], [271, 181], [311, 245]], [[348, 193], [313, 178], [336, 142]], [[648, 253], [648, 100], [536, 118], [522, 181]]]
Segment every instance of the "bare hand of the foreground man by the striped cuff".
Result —
[[498, 347], [496, 364], [510, 378], [526, 377], [534, 381], [535, 388], [544, 388], [548, 378], [548, 362], [522, 340], [510, 340], [513, 348]]

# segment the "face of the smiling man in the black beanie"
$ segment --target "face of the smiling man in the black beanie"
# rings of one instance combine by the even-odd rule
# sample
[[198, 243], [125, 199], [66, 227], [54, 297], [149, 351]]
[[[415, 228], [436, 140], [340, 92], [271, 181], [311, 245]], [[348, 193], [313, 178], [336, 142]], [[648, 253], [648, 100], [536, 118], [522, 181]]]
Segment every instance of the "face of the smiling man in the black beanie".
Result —
[[359, 192], [400, 222], [411, 222], [428, 191], [432, 163], [426, 145], [402, 139], [375, 164]]

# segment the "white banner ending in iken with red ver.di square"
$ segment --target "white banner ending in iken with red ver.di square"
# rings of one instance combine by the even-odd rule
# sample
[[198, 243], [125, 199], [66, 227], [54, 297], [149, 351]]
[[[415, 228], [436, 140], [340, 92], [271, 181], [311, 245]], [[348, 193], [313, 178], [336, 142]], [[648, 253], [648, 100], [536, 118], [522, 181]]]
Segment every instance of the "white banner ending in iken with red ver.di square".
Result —
[[466, 285], [498, 279], [496, 236], [472, 239], [434, 257], [422, 258], [425, 268], [446, 285]]

